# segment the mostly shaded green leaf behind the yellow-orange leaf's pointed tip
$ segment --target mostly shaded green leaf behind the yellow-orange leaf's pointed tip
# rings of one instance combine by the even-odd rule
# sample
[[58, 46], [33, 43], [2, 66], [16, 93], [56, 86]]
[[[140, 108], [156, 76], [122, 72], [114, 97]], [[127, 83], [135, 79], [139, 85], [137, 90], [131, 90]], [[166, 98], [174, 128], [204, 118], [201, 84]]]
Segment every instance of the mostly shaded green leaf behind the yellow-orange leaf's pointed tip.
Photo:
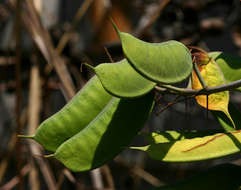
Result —
[[[228, 111], [235, 123], [236, 130], [241, 129], [241, 113], [235, 106], [231, 103], [228, 105]], [[211, 111], [214, 117], [218, 120], [225, 131], [234, 131], [233, 124], [230, 119], [221, 111]]]

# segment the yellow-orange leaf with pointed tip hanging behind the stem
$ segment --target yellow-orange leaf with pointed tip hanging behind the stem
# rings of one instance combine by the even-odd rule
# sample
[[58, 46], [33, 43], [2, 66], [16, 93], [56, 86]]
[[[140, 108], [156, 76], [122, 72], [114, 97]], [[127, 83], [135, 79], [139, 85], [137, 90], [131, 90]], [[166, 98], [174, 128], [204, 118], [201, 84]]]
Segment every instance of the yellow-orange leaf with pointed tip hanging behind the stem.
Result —
[[[206, 55], [202, 54], [201, 56], [205, 57]], [[198, 60], [200, 59], [202, 58], [199, 58]], [[199, 71], [203, 79], [207, 83], [208, 87], [219, 86], [226, 83], [221, 69], [213, 59], [209, 59], [206, 64], [203, 64], [203, 62], [201, 64], [199, 64], [198, 62], [197, 64], [198, 64]], [[199, 90], [203, 88], [195, 72], [192, 73], [192, 88], [195, 90]], [[202, 107], [207, 108], [206, 95], [196, 96], [196, 101]], [[235, 127], [235, 124], [228, 112], [228, 103], [229, 103], [228, 91], [218, 92], [218, 93], [210, 94], [208, 96], [208, 109], [224, 112], [232, 122], [233, 126]]]

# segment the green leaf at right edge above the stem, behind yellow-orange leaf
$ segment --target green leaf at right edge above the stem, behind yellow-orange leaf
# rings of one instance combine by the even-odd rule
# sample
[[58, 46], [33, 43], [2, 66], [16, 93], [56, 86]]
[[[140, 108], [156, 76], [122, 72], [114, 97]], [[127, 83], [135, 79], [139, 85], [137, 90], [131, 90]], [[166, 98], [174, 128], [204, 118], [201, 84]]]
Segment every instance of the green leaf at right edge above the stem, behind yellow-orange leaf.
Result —
[[[241, 79], [241, 57], [223, 52], [211, 52], [209, 56], [219, 65], [227, 82]], [[237, 90], [241, 91], [241, 87], [237, 88]]]

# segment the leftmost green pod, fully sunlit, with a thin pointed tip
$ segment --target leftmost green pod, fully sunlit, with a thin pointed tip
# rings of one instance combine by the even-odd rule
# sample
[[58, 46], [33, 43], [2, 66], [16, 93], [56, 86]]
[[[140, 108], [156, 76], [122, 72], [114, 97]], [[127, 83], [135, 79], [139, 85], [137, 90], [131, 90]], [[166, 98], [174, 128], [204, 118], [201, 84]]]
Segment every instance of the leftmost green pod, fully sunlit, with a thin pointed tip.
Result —
[[[94, 76], [59, 112], [46, 119], [30, 137], [55, 152], [64, 141], [85, 128], [108, 104], [112, 96]], [[20, 135], [21, 136], [21, 135]]]

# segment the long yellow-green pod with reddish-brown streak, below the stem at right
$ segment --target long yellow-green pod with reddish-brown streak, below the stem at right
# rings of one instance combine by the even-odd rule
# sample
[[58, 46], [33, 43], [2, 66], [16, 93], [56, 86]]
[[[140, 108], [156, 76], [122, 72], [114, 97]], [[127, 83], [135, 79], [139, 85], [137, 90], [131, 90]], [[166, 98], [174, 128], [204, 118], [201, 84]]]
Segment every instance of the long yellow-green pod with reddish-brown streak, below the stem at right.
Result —
[[202, 138], [131, 147], [142, 150], [154, 160], [164, 162], [193, 162], [219, 158], [241, 150], [241, 131], [218, 133]]

